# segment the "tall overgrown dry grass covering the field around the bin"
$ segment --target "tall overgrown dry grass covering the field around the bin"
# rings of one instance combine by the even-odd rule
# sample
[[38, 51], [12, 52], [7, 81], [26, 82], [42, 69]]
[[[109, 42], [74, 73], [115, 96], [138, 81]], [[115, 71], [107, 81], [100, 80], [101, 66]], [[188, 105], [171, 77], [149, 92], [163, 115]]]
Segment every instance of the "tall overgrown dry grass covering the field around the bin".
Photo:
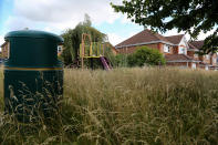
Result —
[[[2, 72], [0, 72], [2, 106]], [[21, 124], [0, 107], [0, 144], [218, 144], [218, 73], [65, 70], [61, 115]]]

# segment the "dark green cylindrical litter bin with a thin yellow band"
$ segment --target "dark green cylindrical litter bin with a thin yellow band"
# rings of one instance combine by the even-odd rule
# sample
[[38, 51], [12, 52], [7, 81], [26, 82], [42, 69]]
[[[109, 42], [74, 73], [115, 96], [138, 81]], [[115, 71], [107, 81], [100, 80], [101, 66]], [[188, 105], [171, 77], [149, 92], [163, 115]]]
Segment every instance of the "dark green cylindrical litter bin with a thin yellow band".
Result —
[[63, 64], [58, 60], [59, 35], [43, 31], [12, 31], [4, 62], [6, 112], [21, 122], [51, 116], [63, 96]]

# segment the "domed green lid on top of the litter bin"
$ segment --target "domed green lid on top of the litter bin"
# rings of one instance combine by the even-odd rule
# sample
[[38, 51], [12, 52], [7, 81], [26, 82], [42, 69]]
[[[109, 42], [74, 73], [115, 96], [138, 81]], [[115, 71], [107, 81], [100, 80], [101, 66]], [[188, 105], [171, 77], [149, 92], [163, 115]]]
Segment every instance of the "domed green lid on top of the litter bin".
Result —
[[37, 31], [37, 30], [11, 31], [6, 34], [4, 39], [9, 40], [10, 38], [52, 39], [58, 43], [63, 43], [63, 39], [61, 37], [50, 32]]

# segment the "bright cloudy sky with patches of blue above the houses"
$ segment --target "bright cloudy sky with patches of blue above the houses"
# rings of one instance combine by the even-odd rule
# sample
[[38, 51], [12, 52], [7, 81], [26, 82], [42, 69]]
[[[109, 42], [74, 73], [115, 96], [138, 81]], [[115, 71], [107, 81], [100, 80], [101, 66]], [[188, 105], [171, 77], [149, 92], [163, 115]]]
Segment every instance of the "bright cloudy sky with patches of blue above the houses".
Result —
[[[7, 32], [24, 28], [61, 34], [83, 21], [85, 13], [94, 28], [107, 34], [113, 45], [144, 30], [125, 14], [114, 12], [111, 2], [121, 4], [122, 0], [0, 0], [0, 44]], [[198, 39], [210, 33], [200, 33]], [[163, 35], [175, 34], [177, 30]]]

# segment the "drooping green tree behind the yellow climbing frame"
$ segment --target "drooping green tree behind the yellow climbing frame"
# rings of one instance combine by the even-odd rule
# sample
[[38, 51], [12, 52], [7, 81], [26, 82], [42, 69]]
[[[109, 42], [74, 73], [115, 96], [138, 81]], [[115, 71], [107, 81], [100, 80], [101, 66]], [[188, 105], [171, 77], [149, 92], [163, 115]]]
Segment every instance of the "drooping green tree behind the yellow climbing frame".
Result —
[[80, 50], [83, 33], [91, 34], [93, 42], [104, 42], [106, 38], [106, 34], [92, 27], [90, 17], [85, 14], [83, 22], [80, 22], [74, 29], [69, 29], [62, 34], [64, 38], [64, 51], [62, 58], [65, 65], [77, 61], [77, 52]]

